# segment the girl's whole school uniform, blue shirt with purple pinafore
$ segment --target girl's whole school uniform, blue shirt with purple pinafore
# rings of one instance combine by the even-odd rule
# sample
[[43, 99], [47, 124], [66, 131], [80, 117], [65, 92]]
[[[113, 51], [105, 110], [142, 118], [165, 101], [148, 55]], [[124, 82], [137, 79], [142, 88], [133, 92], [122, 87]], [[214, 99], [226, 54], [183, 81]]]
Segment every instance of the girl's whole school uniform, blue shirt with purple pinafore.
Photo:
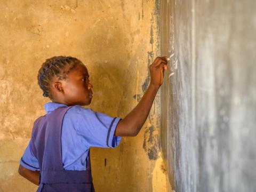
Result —
[[37, 191], [94, 191], [90, 147], [114, 148], [121, 137], [121, 118], [81, 106], [48, 102], [46, 115], [36, 119], [20, 164], [40, 171]]

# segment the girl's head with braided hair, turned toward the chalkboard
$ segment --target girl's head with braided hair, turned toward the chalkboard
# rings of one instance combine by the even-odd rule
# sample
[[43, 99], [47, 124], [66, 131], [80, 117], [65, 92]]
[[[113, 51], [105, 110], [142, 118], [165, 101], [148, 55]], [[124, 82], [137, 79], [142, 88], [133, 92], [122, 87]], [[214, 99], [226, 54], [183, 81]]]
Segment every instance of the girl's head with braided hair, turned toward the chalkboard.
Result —
[[73, 57], [46, 59], [37, 75], [43, 96], [68, 106], [90, 105], [92, 84], [85, 65]]

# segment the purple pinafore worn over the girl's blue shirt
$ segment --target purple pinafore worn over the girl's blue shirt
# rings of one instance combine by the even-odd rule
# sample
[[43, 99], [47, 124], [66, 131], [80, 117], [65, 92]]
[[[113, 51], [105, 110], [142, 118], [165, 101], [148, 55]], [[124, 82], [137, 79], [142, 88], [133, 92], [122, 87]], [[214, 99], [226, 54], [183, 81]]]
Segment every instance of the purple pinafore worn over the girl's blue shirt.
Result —
[[84, 171], [64, 170], [61, 156], [61, 127], [63, 117], [70, 107], [59, 107], [50, 114], [36, 119], [32, 131], [31, 151], [38, 159], [41, 191], [94, 192], [91, 161]]

